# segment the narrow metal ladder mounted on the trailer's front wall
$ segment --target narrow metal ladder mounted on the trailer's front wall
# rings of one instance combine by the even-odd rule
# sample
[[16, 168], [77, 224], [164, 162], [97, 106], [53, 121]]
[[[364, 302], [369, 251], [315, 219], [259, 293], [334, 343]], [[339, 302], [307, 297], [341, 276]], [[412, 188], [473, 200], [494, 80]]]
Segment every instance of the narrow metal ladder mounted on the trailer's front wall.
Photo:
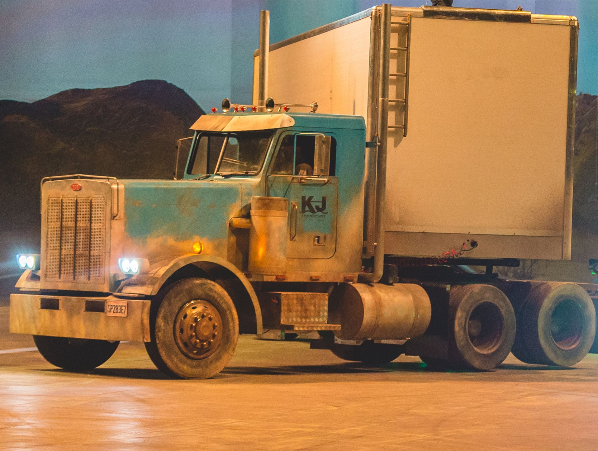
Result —
[[[392, 19], [395, 19], [393, 22]], [[411, 14], [407, 17], [393, 16], [390, 20], [390, 55], [392, 68], [389, 71], [389, 87], [393, 88], [394, 99], [388, 99], [389, 117], [392, 115], [394, 124], [389, 124], [391, 130], [403, 130], [407, 136], [407, 111], [409, 106], [409, 44], [411, 41]], [[400, 19], [400, 20], [397, 20]], [[396, 47], [392, 47], [396, 42]], [[401, 45], [404, 44], [404, 45]], [[404, 57], [401, 57], [401, 54]], [[393, 72], [394, 71], [394, 72]], [[390, 106], [392, 105], [392, 106]]]

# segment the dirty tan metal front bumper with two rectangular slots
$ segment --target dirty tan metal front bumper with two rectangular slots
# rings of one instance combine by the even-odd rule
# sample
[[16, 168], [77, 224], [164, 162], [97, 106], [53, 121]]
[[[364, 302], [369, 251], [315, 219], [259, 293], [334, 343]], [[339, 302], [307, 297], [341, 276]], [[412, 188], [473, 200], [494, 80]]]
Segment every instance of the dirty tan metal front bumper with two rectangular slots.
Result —
[[[126, 303], [127, 316], [108, 316], [106, 301]], [[10, 331], [17, 334], [149, 342], [149, 300], [10, 295]]]

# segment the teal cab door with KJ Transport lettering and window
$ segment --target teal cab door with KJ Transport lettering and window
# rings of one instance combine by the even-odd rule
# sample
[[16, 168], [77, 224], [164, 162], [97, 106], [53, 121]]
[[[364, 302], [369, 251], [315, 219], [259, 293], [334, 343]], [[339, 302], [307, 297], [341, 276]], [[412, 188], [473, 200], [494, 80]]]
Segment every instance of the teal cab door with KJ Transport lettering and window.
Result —
[[266, 195], [289, 200], [288, 258], [330, 258], [336, 250], [338, 178], [331, 142], [322, 133], [280, 136]]

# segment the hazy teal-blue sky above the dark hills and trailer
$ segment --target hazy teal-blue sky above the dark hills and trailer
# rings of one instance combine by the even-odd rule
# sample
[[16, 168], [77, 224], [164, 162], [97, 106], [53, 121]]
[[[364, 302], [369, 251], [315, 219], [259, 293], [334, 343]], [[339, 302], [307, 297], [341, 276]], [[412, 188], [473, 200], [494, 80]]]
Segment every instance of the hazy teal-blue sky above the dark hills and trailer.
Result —
[[[419, 1], [393, 5], [419, 6]], [[260, 9], [271, 42], [373, 6], [364, 0], [0, 0], [0, 99], [33, 101], [71, 88], [147, 78], [184, 89], [204, 109], [251, 98]], [[521, 5], [581, 22], [578, 92], [598, 94], [598, 1], [454, 0], [461, 7]]]

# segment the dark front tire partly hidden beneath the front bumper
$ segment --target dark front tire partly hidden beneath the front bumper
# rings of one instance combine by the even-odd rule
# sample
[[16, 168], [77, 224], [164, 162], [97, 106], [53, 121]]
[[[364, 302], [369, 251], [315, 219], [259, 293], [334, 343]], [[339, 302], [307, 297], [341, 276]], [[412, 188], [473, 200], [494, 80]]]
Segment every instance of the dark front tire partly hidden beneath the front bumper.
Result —
[[120, 342], [34, 335], [33, 342], [48, 362], [69, 371], [89, 371], [108, 360]]

